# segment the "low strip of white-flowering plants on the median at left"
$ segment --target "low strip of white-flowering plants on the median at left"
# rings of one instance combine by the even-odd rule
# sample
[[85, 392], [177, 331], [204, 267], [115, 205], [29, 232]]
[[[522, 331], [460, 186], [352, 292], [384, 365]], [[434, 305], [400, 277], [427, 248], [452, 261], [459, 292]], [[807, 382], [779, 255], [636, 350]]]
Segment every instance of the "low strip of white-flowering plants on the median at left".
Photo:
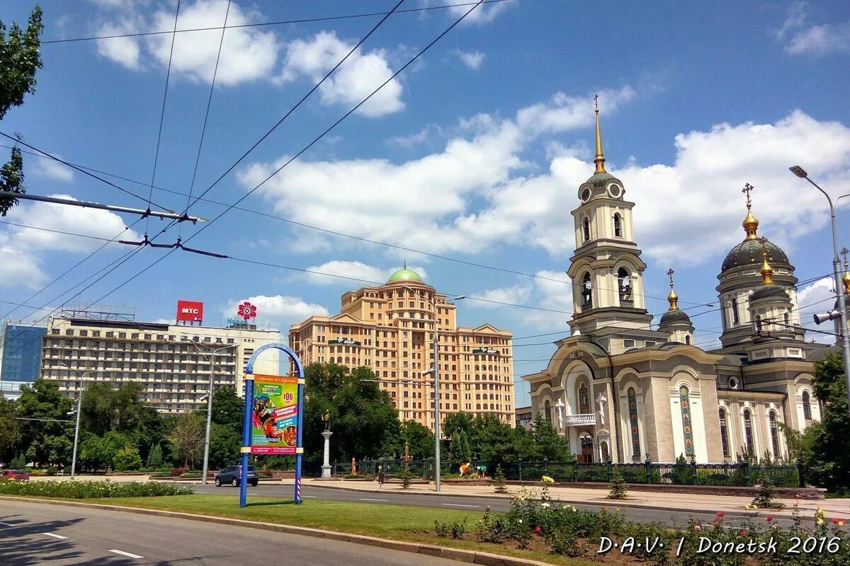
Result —
[[67, 497], [88, 499], [91, 497], [156, 497], [188, 496], [190, 486], [161, 484], [159, 482], [112, 482], [112, 481], [0, 481], [0, 495]]

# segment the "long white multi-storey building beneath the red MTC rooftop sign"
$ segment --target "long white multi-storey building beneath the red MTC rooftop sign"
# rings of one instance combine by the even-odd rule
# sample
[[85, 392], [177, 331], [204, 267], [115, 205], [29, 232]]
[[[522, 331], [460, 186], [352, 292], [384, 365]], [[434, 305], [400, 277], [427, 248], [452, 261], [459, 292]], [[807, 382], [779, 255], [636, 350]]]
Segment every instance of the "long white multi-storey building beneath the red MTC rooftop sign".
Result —
[[[183, 326], [116, 320], [104, 313], [75, 312], [48, 321], [42, 343], [42, 378], [59, 382], [59, 390], [76, 399], [86, 385], [118, 387], [138, 382], [144, 401], [164, 413], [190, 412], [206, 406], [210, 373], [213, 386], [235, 387], [242, 395], [245, 364], [253, 351], [280, 341], [280, 331]], [[258, 360], [256, 373], [278, 373], [278, 350]]]

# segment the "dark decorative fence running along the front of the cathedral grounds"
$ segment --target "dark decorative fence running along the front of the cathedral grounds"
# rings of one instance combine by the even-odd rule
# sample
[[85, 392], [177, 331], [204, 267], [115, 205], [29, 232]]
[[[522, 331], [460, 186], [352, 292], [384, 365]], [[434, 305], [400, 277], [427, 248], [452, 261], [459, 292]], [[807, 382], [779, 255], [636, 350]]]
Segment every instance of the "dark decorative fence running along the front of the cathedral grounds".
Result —
[[[484, 466], [487, 476], [495, 473], [490, 462], [473, 461], [472, 468]], [[422, 478], [433, 477], [433, 458], [408, 462], [411, 474]], [[365, 460], [357, 462], [358, 474], [377, 474], [378, 467], [387, 476], [396, 476], [404, 471], [402, 460]], [[456, 469], [447, 462], [441, 462], [441, 473], [455, 476]], [[748, 462], [704, 464], [697, 462], [665, 463], [635, 462], [615, 464], [579, 463], [579, 462], [502, 462], [501, 471], [505, 479], [519, 481], [539, 481], [547, 475], [558, 482], [598, 481], [609, 482], [614, 468], [620, 471], [623, 479], [630, 484], [652, 485], [755, 485], [760, 477], [767, 476], [777, 487], [805, 487], [806, 474], [802, 462], [788, 465], [760, 466]], [[337, 462], [331, 470], [333, 475], [351, 474], [351, 464]]]

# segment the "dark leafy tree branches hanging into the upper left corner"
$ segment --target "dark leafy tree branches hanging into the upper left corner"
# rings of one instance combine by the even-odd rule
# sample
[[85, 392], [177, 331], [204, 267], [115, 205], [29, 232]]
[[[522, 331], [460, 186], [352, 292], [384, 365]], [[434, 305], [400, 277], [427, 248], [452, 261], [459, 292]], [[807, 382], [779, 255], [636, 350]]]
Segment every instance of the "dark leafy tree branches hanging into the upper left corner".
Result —
[[[42, 34], [42, 8], [36, 6], [30, 14], [26, 31], [14, 23], [6, 34], [0, 21], [0, 120], [9, 108], [24, 104], [28, 93], [36, 92], [36, 71], [42, 68], [39, 48]], [[24, 162], [20, 149], [12, 149], [10, 159], [0, 167], [0, 189], [12, 193], [26, 193]], [[18, 204], [17, 199], [0, 198], [0, 216]]]

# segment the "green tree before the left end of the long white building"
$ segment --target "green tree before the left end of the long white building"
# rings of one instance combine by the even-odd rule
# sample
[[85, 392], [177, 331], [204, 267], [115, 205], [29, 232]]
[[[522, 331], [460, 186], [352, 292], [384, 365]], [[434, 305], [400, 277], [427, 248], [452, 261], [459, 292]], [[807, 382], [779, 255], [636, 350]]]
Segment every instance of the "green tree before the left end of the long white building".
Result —
[[19, 421], [19, 451], [26, 453], [37, 464], [70, 463], [70, 451], [60, 453], [58, 450], [68, 444], [55, 438], [74, 438], [74, 423], [68, 417], [72, 402], [59, 393], [59, 384], [37, 379], [32, 384], [24, 385], [20, 389], [17, 405], [18, 416], [26, 419]]

